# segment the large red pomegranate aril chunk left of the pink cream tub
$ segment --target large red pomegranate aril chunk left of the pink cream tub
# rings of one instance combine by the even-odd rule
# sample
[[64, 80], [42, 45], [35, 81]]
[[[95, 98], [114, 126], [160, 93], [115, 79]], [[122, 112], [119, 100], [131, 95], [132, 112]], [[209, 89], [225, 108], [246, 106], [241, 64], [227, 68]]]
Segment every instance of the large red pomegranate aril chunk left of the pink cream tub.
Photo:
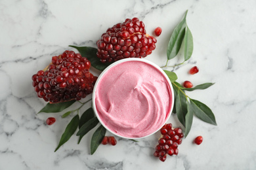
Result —
[[89, 73], [91, 62], [81, 54], [66, 50], [53, 56], [52, 63], [32, 76], [35, 92], [45, 101], [58, 103], [79, 100], [93, 92], [96, 76]]

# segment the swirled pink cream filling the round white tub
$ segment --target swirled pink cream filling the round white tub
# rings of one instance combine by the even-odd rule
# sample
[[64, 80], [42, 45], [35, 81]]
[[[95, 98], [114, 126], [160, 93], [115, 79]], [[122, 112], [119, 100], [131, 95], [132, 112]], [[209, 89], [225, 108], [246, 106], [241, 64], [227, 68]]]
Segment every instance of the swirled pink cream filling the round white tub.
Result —
[[127, 138], [154, 133], [171, 114], [171, 88], [161, 71], [143, 61], [110, 68], [96, 86], [95, 105], [105, 127]]

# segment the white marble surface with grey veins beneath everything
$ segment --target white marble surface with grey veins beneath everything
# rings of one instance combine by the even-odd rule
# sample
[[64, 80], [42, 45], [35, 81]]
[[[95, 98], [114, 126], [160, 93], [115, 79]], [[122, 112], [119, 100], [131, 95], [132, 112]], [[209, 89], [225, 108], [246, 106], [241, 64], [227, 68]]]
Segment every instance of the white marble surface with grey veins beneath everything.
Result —
[[[1, 0], [0, 169], [256, 169], [255, 7], [254, 0]], [[33, 92], [31, 76], [51, 56], [72, 50], [68, 45], [95, 46], [108, 27], [135, 16], [150, 34], [162, 27], [157, 48], [146, 59], [163, 66], [169, 37], [187, 9], [194, 53], [186, 64], [168, 69], [177, 73], [178, 82], [215, 82], [207, 90], [188, 95], [213, 110], [218, 126], [194, 117], [179, 155], [165, 162], [152, 155], [160, 133], [139, 143], [116, 137], [116, 146], [100, 145], [90, 155], [90, 132], [80, 144], [74, 136], [54, 152], [74, 115], [36, 114], [46, 103]], [[182, 61], [178, 58], [169, 65]], [[194, 65], [200, 72], [188, 75]], [[49, 116], [56, 118], [52, 126], [45, 124]], [[175, 114], [168, 122], [181, 126]], [[200, 146], [192, 143], [198, 135], [204, 138]]]

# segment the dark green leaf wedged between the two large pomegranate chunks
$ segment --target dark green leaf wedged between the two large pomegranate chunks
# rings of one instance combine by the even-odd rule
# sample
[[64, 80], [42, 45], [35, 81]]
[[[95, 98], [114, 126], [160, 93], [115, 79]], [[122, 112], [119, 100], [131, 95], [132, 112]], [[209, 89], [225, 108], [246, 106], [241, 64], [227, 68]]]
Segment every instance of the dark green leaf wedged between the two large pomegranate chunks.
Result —
[[100, 71], [103, 71], [110, 65], [111, 63], [102, 63], [100, 62], [100, 58], [97, 57], [96, 53], [98, 50], [96, 48], [90, 47], [90, 46], [71, 46], [79, 51], [81, 56], [84, 58], [89, 59], [91, 61], [91, 66], [95, 67], [95, 69], [98, 69]]

